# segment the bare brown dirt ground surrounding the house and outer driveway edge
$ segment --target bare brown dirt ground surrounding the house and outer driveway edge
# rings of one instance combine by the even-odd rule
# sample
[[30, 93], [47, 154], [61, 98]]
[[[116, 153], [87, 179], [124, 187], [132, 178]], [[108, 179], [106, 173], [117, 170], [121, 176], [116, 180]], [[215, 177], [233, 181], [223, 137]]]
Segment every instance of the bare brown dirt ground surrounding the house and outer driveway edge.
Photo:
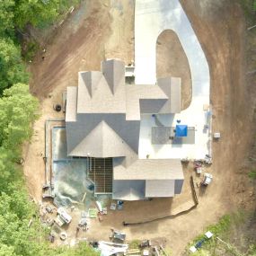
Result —
[[[60, 102], [60, 93], [66, 86], [76, 85], [79, 70], [99, 70], [104, 57], [123, 58], [127, 63], [133, 59], [130, 49], [134, 37], [131, 22], [134, 5], [130, 1], [111, 2], [121, 3], [123, 7], [103, 0], [82, 4], [81, 8], [86, 8], [84, 14], [80, 13], [81, 9], [75, 11], [47, 46], [45, 60], [40, 53], [31, 65], [31, 92], [40, 98], [41, 117], [34, 124], [31, 144], [24, 149], [24, 172], [31, 195], [37, 201], [41, 200], [44, 182], [44, 122], [62, 116], [52, 108]], [[253, 114], [244, 78], [243, 13], [229, 0], [181, 0], [181, 4], [198, 34], [210, 67], [213, 129], [222, 136], [213, 144], [214, 163], [209, 172], [213, 173], [214, 182], [205, 192], [198, 191], [199, 206], [186, 215], [122, 227], [124, 220], [165, 216], [188, 207], [191, 204], [188, 178], [193, 173], [190, 165], [184, 169], [187, 183], [181, 196], [125, 203], [123, 211], [109, 213], [102, 223], [93, 221], [85, 234], [88, 238], [106, 240], [110, 227], [114, 226], [124, 230], [128, 240], [156, 237], [172, 247], [173, 255], [182, 255], [186, 244], [203, 232], [206, 225], [216, 222], [226, 212], [237, 207], [247, 208], [253, 203], [252, 184], [246, 175], [248, 168], [243, 165], [251, 147]]]

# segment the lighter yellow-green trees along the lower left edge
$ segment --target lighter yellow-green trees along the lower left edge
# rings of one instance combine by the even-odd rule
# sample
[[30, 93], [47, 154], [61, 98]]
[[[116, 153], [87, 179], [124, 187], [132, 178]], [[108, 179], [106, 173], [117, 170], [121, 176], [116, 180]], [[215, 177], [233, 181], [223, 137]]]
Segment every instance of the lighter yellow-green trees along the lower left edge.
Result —
[[0, 255], [98, 255], [84, 243], [73, 249], [50, 249], [47, 230], [28, 198], [19, 163], [22, 143], [31, 138], [38, 107], [26, 84], [5, 89], [0, 99]]

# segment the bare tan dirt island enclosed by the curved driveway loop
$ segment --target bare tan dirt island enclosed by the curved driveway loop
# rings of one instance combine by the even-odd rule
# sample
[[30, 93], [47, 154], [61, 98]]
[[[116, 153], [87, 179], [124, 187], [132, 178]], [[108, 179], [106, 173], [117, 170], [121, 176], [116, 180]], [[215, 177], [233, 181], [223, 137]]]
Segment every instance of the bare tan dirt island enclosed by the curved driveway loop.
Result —
[[187, 109], [191, 102], [192, 84], [190, 64], [181, 42], [174, 31], [163, 31], [156, 42], [157, 77], [181, 77], [181, 107]]

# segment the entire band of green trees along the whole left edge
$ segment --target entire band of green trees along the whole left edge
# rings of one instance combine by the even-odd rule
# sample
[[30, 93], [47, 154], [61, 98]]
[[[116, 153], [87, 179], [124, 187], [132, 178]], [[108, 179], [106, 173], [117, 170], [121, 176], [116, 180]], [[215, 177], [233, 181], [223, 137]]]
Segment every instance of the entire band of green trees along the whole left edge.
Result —
[[[16, 32], [27, 24], [54, 22], [70, 1], [0, 1], [0, 256], [96, 256], [86, 243], [73, 248], [52, 248], [49, 231], [40, 224], [38, 208], [31, 202], [22, 173], [22, 143], [31, 139], [31, 124], [38, 118], [39, 102], [30, 91]], [[27, 45], [30, 59], [39, 49]], [[29, 226], [29, 223], [31, 225]]]

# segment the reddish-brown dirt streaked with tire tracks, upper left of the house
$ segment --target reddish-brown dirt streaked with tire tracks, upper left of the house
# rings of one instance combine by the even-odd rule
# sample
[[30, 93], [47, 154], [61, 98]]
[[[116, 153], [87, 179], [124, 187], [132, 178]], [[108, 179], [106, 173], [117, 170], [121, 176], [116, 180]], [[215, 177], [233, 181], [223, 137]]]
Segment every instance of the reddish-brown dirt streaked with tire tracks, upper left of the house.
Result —
[[57, 37], [49, 46], [45, 60], [40, 55], [36, 57], [36, 63], [31, 67], [31, 92], [38, 97], [45, 97], [59, 84], [69, 85], [66, 81], [70, 79], [76, 81], [83, 59], [87, 70], [100, 68], [104, 58], [104, 42], [110, 36], [110, 13], [101, 1], [91, 4], [88, 8], [92, 11], [75, 33], [68, 26], [63, 27], [61, 34], [66, 37], [66, 33], [69, 33], [68, 38]]

